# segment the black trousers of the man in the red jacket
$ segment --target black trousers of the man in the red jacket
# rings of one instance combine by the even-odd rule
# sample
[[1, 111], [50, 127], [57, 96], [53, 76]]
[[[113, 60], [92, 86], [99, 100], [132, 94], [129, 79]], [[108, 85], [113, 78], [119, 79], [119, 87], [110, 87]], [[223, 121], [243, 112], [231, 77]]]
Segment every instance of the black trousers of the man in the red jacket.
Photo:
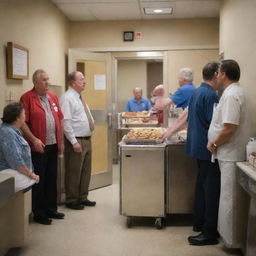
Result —
[[32, 152], [34, 171], [40, 181], [32, 187], [32, 211], [36, 218], [46, 218], [57, 210], [57, 145], [45, 146], [44, 153]]

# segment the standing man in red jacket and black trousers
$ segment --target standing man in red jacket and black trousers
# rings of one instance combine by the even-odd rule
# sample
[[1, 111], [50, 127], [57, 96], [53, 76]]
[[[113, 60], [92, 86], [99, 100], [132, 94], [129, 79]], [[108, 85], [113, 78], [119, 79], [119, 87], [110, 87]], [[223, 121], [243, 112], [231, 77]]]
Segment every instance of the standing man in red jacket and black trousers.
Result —
[[22, 131], [31, 147], [34, 171], [40, 176], [40, 182], [32, 188], [34, 220], [49, 225], [52, 218], [64, 218], [57, 211], [57, 158], [63, 115], [57, 96], [48, 91], [49, 76], [44, 70], [34, 72], [33, 84], [33, 89], [21, 96], [26, 115]]

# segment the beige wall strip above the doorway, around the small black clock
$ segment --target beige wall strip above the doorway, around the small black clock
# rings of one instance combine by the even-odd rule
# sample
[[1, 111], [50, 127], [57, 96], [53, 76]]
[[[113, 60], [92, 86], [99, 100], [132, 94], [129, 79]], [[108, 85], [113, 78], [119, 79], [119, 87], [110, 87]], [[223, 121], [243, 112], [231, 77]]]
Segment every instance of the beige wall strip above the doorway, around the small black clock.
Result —
[[[218, 19], [72, 22], [71, 48], [206, 47], [218, 46]], [[139, 31], [142, 38], [123, 42], [123, 31]]]

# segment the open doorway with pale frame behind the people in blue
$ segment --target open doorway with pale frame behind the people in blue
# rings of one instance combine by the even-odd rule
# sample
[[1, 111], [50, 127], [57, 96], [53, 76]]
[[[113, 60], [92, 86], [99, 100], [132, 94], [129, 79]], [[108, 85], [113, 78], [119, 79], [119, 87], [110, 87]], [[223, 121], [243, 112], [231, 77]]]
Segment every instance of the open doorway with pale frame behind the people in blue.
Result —
[[123, 112], [128, 99], [133, 97], [133, 89], [141, 87], [143, 97], [151, 98], [153, 88], [158, 84], [168, 86], [167, 52], [118, 52], [112, 53], [112, 93], [113, 93], [113, 163], [118, 163], [118, 142], [123, 131], [118, 125], [118, 113]]

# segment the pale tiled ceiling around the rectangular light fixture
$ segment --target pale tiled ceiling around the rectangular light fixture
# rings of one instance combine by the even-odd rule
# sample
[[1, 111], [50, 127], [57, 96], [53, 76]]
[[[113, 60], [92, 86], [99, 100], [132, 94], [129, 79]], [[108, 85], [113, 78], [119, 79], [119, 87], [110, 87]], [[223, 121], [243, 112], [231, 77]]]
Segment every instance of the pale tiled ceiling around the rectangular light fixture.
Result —
[[[51, 0], [71, 21], [219, 17], [221, 0]], [[172, 14], [145, 15], [144, 8], [172, 7]]]

